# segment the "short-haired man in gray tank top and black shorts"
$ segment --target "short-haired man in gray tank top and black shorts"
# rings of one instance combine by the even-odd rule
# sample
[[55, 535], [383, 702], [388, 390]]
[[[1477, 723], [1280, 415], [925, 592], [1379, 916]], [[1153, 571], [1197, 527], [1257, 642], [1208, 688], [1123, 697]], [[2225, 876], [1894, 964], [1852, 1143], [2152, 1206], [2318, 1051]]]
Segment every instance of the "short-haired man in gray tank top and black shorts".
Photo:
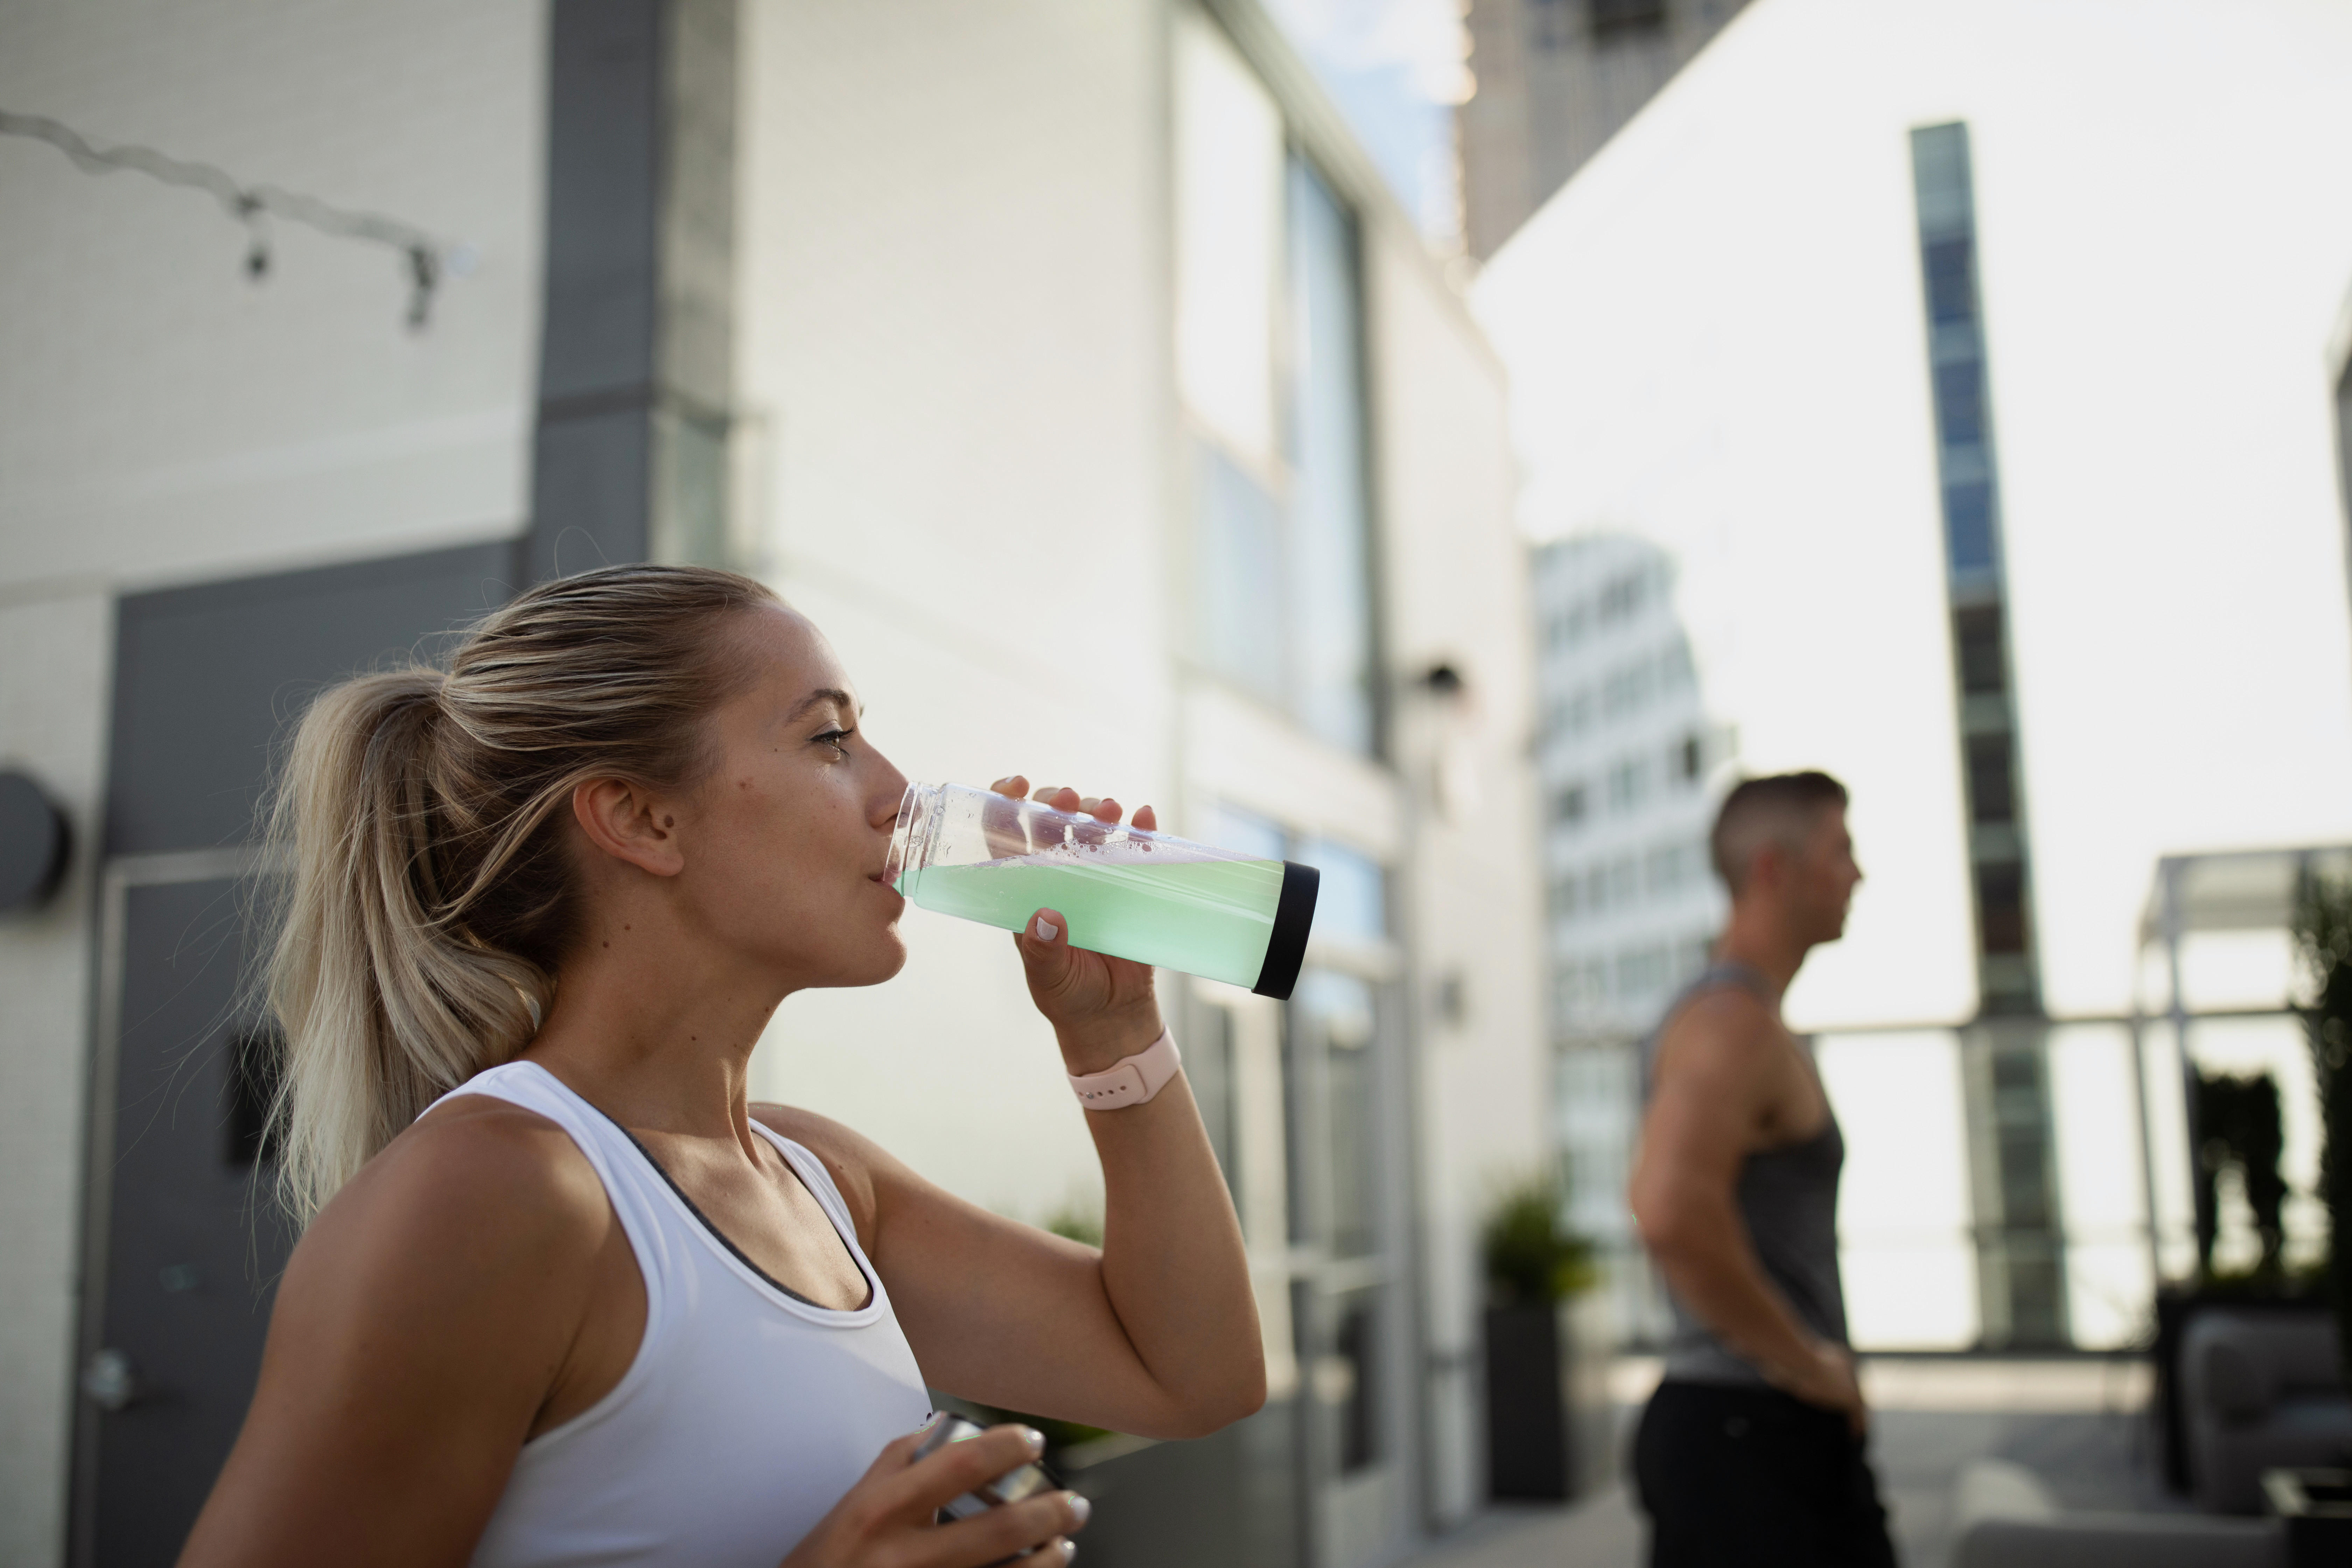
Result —
[[1806, 952], [1863, 879], [1846, 788], [1738, 785], [1715, 818], [1731, 924], [1649, 1039], [1632, 1213], [1675, 1305], [1635, 1483], [1653, 1568], [1889, 1568], [1867, 1410], [1837, 1274], [1846, 1145], [1811, 1051], [1780, 1023]]

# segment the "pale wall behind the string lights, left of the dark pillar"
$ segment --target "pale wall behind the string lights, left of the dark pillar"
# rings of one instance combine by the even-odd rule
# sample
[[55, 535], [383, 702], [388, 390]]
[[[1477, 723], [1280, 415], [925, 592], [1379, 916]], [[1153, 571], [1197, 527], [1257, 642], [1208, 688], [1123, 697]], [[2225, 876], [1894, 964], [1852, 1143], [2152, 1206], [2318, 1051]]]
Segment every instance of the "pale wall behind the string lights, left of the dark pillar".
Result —
[[539, 5], [24, 0], [0, 103], [475, 247], [423, 334], [381, 247], [0, 136], [0, 766], [75, 865], [0, 922], [0, 1561], [64, 1549], [113, 595], [515, 534], [539, 331]]

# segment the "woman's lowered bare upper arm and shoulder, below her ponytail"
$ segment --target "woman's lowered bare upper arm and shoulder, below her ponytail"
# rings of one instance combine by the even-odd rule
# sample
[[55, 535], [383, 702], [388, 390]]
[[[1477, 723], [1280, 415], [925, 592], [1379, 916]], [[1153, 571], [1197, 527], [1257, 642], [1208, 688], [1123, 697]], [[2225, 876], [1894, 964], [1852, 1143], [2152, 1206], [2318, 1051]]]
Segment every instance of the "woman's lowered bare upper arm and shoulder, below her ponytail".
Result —
[[[609, 1309], [616, 1262], [635, 1314]], [[597, 1291], [623, 1342], [581, 1345]], [[534, 1425], [602, 1392], [572, 1387], [583, 1368], [616, 1382], [642, 1326], [635, 1255], [572, 1138], [499, 1100], [433, 1112], [294, 1248], [181, 1568], [466, 1563]]]

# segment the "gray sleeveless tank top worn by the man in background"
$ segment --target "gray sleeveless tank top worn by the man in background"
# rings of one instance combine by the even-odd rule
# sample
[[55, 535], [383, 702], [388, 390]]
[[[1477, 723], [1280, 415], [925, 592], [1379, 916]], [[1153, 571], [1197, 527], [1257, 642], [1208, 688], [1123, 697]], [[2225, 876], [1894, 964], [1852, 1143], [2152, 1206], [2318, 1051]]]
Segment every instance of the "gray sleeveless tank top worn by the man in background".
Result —
[[[1736, 985], [1773, 1004], [1771, 983], [1745, 964], [1715, 964], [1665, 1009], [1658, 1030], [1642, 1041], [1642, 1100], [1658, 1039], [1693, 997]], [[1738, 1208], [1748, 1241], [1797, 1321], [1832, 1345], [1846, 1342], [1846, 1288], [1837, 1276], [1837, 1173], [1846, 1164], [1846, 1140], [1837, 1114], [1806, 1138], [1762, 1150], [1740, 1164]], [[1668, 1291], [1675, 1338], [1665, 1347], [1665, 1375], [1679, 1382], [1762, 1385], [1764, 1373], [1743, 1361]]]

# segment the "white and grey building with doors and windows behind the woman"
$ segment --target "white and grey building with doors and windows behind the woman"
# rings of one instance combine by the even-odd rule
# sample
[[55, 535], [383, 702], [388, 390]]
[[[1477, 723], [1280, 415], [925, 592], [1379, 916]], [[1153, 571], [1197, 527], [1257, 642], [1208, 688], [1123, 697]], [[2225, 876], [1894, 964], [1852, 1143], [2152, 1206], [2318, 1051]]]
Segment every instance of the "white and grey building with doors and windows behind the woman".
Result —
[[[400, 247], [0, 136], [33, 237], [0, 259], [0, 764], [75, 837], [0, 924], [0, 1556], [169, 1561], [242, 1415], [287, 1244], [235, 987], [282, 722], [647, 555], [776, 583], [915, 778], [1018, 769], [1324, 867], [1289, 1006], [1169, 978], [1275, 1399], [1098, 1455], [1089, 1552], [1338, 1568], [1468, 1514], [1479, 1206], [1550, 1147], [1503, 374], [1263, 14], [9, 26], [0, 108], [390, 214], [433, 287], [409, 329]], [[908, 936], [889, 987], [779, 1013], [757, 1091], [1021, 1218], [1098, 1204], [1002, 938]]]

